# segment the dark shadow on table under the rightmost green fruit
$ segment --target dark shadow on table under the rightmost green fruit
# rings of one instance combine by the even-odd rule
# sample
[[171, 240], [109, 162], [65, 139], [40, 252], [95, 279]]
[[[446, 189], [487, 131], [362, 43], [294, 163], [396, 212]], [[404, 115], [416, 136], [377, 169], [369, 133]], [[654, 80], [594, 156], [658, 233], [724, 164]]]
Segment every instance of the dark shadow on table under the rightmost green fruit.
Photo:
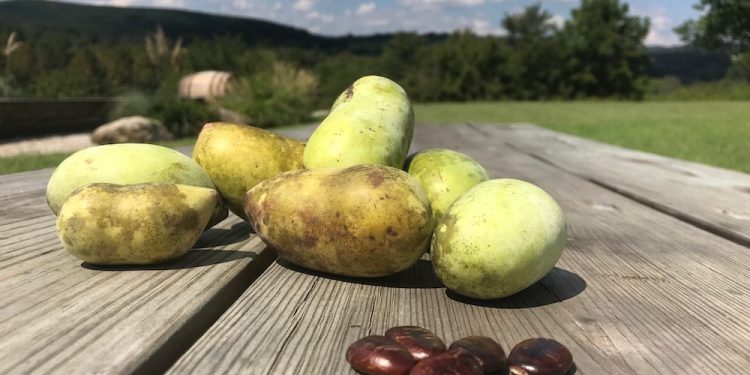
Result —
[[495, 300], [479, 300], [464, 297], [446, 289], [448, 298], [470, 305], [498, 309], [523, 309], [551, 305], [573, 298], [586, 289], [586, 281], [578, 274], [555, 267], [541, 280], [509, 297]]

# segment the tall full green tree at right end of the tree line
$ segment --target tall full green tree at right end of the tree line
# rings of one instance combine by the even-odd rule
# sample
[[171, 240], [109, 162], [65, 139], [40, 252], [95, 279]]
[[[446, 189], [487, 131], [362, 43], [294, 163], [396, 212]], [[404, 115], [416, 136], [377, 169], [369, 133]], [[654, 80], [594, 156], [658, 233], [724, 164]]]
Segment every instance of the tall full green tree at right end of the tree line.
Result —
[[573, 10], [561, 33], [566, 96], [643, 96], [649, 20], [628, 12], [619, 0], [582, 0]]

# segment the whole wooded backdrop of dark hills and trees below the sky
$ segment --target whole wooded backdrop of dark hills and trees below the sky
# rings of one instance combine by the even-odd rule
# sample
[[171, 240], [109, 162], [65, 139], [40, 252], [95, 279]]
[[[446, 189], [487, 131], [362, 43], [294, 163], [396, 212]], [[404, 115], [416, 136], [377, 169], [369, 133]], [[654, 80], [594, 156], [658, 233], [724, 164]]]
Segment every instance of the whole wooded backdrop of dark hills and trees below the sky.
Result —
[[620, 1], [584, 1], [562, 27], [541, 5], [498, 18], [505, 37], [467, 31], [326, 37], [187, 11], [2, 1], [7, 53], [0, 56], [0, 96], [153, 94], [173, 91], [179, 76], [198, 70], [257, 81], [281, 64], [308, 72], [313, 101], [322, 103], [365, 74], [389, 76], [421, 101], [637, 99], [648, 77], [712, 80], [729, 65], [721, 53], [647, 49], [647, 20]]

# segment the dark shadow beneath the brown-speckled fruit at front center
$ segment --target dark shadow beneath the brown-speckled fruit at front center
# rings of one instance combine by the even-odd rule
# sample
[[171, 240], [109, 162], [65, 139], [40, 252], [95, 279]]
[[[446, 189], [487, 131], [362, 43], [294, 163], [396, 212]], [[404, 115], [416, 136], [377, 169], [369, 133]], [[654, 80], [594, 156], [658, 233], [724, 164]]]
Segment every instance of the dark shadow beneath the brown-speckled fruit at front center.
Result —
[[443, 284], [435, 277], [432, 272], [432, 263], [429, 260], [420, 259], [415, 265], [399, 273], [375, 277], [347, 277], [337, 276], [325, 272], [309, 270], [298, 265], [287, 262], [283, 259], [277, 259], [276, 263], [280, 266], [295, 272], [323, 277], [331, 280], [338, 280], [354, 284], [364, 284], [373, 286], [384, 286], [390, 288], [442, 288]]

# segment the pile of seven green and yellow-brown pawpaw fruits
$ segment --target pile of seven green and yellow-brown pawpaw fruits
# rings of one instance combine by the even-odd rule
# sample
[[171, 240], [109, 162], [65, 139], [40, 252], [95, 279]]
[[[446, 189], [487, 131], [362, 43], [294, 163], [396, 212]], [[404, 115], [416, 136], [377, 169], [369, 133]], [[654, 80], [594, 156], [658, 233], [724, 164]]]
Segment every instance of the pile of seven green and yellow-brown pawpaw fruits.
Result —
[[403, 88], [366, 76], [306, 143], [209, 123], [192, 159], [149, 144], [91, 147], [58, 166], [47, 201], [63, 247], [94, 264], [176, 259], [229, 209], [281, 258], [337, 275], [391, 275], [429, 251], [448, 288], [493, 299], [554, 267], [565, 220], [551, 196], [490, 179], [456, 151], [409, 156], [413, 133]]

